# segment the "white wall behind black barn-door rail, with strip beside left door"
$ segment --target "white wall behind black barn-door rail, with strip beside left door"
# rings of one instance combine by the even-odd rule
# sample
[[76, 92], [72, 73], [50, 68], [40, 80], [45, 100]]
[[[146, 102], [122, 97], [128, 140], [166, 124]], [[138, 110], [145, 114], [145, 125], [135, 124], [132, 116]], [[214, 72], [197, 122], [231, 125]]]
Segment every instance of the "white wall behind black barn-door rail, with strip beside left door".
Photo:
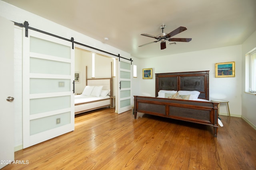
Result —
[[[59, 35], [61, 37], [65, 37], [67, 39], [71, 39], [74, 37], [74, 41], [89, 45], [91, 47], [95, 47], [98, 49], [102, 49], [104, 51], [108, 51], [109, 53], [125, 57], [130, 59], [131, 56], [129, 53], [121, 51], [115, 47], [92, 39], [86, 35], [78, 33], [74, 30], [68, 29], [54, 23], [52, 21], [46, 20], [40, 16], [36, 16], [30, 12], [12, 6], [6, 2], [0, 0], [0, 16], [15, 21], [17, 23], [24, 23], [24, 21], [28, 21], [30, 27], [34, 27], [37, 29], [41, 29], [43, 31]], [[17, 40], [14, 44], [14, 63], [18, 65], [18, 68], [14, 70], [14, 81], [16, 85], [14, 86], [14, 98], [15, 98], [15, 113], [14, 113], [14, 121], [15, 121], [15, 132], [14, 132], [14, 145], [15, 150], [22, 148], [22, 72], [19, 70], [21, 68], [22, 61], [22, 31], [16, 31], [14, 33], [14, 39]], [[19, 89], [18, 89], [19, 88]]]

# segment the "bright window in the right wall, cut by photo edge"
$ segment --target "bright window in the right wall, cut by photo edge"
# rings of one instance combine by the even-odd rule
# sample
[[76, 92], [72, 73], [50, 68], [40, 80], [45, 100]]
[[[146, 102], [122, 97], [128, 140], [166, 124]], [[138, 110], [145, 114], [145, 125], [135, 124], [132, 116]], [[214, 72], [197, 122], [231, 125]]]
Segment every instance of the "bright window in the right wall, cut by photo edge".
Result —
[[250, 53], [250, 92], [256, 92], [256, 50]]

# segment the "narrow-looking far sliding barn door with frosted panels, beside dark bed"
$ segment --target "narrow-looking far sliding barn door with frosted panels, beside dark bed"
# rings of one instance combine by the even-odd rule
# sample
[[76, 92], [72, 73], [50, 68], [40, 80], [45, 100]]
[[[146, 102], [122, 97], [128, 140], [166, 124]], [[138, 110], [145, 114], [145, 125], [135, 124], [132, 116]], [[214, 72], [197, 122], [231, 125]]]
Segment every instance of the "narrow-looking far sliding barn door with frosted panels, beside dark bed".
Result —
[[118, 62], [118, 114], [132, 109], [132, 64], [120, 58]]

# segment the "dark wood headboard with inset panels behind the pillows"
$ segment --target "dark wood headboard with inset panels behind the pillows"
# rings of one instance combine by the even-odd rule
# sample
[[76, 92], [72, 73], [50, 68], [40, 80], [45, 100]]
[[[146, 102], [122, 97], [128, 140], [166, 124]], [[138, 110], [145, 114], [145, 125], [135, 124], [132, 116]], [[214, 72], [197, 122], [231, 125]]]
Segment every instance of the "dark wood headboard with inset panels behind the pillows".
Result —
[[159, 90], [196, 90], [209, 100], [209, 71], [156, 73], [156, 97]]

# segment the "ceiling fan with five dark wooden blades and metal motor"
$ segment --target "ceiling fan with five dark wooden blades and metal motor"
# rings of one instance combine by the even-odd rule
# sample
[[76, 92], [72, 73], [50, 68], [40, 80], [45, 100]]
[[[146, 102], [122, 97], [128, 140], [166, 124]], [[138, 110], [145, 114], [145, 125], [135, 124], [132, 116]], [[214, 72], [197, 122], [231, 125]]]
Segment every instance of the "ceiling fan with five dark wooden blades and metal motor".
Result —
[[[161, 25], [160, 28], [162, 29], [162, 33], [154, 36], [154, 35], [149, 35], [149, 34], [140, 34], [140, 35], [144, 35], [146, 37], [151, 37], [151, 38], [155, 38], [157, 41], [153, 41], [151, 43], [156, 43], [158, 41], [160, 41], [160, 45], [161, 45], [161, 50], [166, 48], [166, 40], [167, 41], [180, 41], [180, 42], [189, 42], [191, 41], [192, 38], [171, 38], [174, 35], [177, 35], [178, 33], [181, 33], [182, 31], [185, 31], [187, 28], [186, 27], [178, 27], [177, 29], [174, 29], [172, 32], [170, 33], [164, 33], [164, 27], [165, 25]], [[151, 43], [146, 43], [144, 45], [140, 45], [139, 47], [143, 47], [145, 45], [151, 44]]]

